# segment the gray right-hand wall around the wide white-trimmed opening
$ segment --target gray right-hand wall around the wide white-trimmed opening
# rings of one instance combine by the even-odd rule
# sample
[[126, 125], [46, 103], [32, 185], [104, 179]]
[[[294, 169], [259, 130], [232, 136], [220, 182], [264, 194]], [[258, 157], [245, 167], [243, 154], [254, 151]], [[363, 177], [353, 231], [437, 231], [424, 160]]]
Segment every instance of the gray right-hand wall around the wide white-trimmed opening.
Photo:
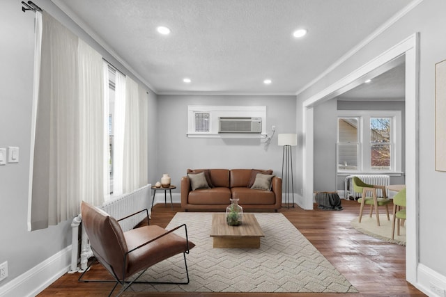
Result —
[[[445, 30], [446, 1], [424, 0], [407, 15], [371, 40], [363, 49], [337, 66], [323, 79], [317, 81], [298, 95], [302, 104], [321, 90], [325, 90], [339, 79], [346, 77], [361, 65], [371, 61], [398, 42], [414, 33], [420, 33], [420, 88], [418, 104], [418, 174], [420, 193], [419, 205], [419, 252], [420, 264], [446, 277], [446, 233], [438, 232], [446, 225], [444, 186], [446, 172], [435, 170], [435, 72], [436, 63], [446, 59]], [[302, 116], [302, 113], [297, 115]], [[300, 152], [299, 152], [300, 153]]]

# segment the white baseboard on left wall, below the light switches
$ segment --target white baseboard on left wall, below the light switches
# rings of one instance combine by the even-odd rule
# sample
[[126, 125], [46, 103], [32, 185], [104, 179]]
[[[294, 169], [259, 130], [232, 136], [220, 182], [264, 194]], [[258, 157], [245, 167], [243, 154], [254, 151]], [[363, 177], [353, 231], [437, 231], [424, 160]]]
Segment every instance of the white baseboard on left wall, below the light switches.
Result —
[[71, 245], [0, 287], [0, 296], [36, 296], [70, 269]]

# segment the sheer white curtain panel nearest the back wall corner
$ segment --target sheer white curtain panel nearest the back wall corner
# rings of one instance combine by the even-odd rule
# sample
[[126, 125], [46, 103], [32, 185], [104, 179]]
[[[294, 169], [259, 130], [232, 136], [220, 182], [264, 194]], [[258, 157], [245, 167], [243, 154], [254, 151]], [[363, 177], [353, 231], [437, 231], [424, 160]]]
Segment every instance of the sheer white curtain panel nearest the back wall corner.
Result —
[[147, 184], [147, 103], [141, 99], [145, 92], [140, 94], [143, 90], [130, 77], [125, 89], [123, 191], [128, 193]]

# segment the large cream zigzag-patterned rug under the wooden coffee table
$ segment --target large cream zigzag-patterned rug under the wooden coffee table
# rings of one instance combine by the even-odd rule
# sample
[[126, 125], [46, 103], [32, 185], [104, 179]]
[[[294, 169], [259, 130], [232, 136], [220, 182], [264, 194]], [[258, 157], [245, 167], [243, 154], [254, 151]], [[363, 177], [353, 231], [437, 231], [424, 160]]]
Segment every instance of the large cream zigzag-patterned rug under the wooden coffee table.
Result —
[[[190, 283], [132, 284], [128, 291], [357, 293], [283, 214], [254, 215], [265, 234], [259, 249], [213, 248], [212, 213], [176, 214], [167, 230], [186, 223], [189, 239], [197, 245], [186, 255]], [[177, 231], [184, 236], [184, 228]], [[181, 254], [152, 266], [140, 280], [185, 278]]]

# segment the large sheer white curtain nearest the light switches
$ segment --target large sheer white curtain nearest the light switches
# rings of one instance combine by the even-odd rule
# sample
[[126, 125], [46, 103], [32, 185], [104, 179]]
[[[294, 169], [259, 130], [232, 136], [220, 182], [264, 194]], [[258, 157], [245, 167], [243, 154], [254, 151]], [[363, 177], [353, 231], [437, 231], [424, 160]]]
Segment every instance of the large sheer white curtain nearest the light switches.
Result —
[[71, 219], [81, 200], [103, 199], [102, 166], [97, 168], [103, 146], [98, 152], [95, 139], [100, 135], [102, 141], [103, 131], [102, 58], [45, 12], [41, 25], [36, 26], [42, 30], [36, 33], [40, 63], [34, 78], [29, 230]]

